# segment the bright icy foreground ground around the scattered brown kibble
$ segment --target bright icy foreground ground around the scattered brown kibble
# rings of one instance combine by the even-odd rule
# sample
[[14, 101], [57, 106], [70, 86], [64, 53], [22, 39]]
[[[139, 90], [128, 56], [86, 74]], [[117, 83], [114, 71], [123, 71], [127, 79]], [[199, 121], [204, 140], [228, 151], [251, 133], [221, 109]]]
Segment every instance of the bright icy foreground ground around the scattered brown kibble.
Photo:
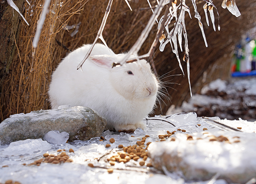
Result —
[[[170, 138], [177, 134], [188, 134], [201, 132], [207, 128], [207, 131], [229, 131], [230, 134], [236, 134], [239, 127], [240, 131], [255, 134], [256, 122], [245, 120], [220, 120], [220, 118], [198, 118], [196, 113], [175, 114], [173, 116], [156, 116], [144, 120], [147, 127], [144, 129], [136, 129], [132, 134], [105, 131], [100, 138], [91, 138], [88, 141], [74, 141], [63, 143], [62, 145], [50, 144], [44, 140], [23, 140], [12, 142], [10, 145], [0, 146], [0, 183], [7, 180], [18, 181], [21, 184], [185, 184], [186, 182], [176, 174], [165, 175], [164, 173], [147, 167], [147, 163], [151, 160], [147, 158], [145, 165], [140, 166], [140, 158], [137, 161], [116, 162], [111, 166], [107, 161], [111, 155], [116, 154], [115, 151], [120, 150], [118, 145], [129, 146], [135, 145], [138, 139], [142, 139], [145, 135], [150, 137], [146, 142], [159, 141], [158, 135], [167, 134], [168, 131], [177, 131], [177, 129], [186, 130], [177, 131]], [[217, 122], [217, 123], [216, 123]], [[222, 123], [222, 124], [219, 124]], [[200, 124], [200, 126], [198, 126]], [[224, 125], [228, 125], [224, 126]], [[232, 129], [233, 128], [233, 129]], [[247, 133], [244, 133], [247, 134]], [[114, 138], [116, 142], [110, 143], [110, 138]], [[165, 138], [168, 141], [168, 137]], [[106, 148], [105, 145], [111, 146]], [[44, 158], [44, 153], [57, 155], [57, 150], [65, 149], [69, 158], [73, 160], [70, 163], [52, 164], [41, 163], [37, 165], [28, 165], [35, 160]], [[74, 152], [69, 152], [73, 149]], [[256, 148], [255, 148], [256, 149]], [[104, 156], [105, 155], [105, 156]], [[244, 157], [255, 159], [250, 153], [246, 153]], [[88, 166], [89, 163], [94, 168]], [[107, 169], [113, 168], [113, 173], [108, 173]], [[209, 182], [209, 181], [208, 181]], [[253, 183], [254, 180], [251, 182]], [[196, 184], [205, 184], [205, 181], [198, 181]], [[225, 180], [213, 180], [212, 183], [227, 184]]]

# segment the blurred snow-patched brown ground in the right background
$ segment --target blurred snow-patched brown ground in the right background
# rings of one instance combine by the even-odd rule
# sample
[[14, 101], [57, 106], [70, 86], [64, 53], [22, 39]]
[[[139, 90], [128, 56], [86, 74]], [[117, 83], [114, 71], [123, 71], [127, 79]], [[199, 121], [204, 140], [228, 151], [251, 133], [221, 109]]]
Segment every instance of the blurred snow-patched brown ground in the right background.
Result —
[[203, 87], [200, 94], [193, 94], [181, 107], [171, 107], [167, 114], [176, 112], [196, 112], [198, 116], [255, 121], [256, 77], [212, 81]]

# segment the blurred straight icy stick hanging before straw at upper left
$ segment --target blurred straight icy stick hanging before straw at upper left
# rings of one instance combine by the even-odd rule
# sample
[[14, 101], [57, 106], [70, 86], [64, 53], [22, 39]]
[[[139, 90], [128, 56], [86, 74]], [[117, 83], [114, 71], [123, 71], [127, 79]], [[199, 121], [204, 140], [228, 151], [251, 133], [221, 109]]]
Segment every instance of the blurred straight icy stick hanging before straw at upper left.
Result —
[[46, 14], [48, 13], [48, 8], [49, 8], [50, 2], [51, 2], [51, 0], [45, 0], [45, 4], [44, 4], [43, 10], [42, 10], [42, 13], [40, 15], [38, 24], [36, 26], [36, 34], [35, 34], [35, 37], [33, 39], [33, 48], [37, 47], [37, 44], [38, 44], [38, 41], [39, 41], [39, 38], [40, 38], [40, 34], [41, 34], [41, 31], [42, 31], [42, 27], [43, 27], [44, 22], [45, 22], [45, 17], [46, 17]]

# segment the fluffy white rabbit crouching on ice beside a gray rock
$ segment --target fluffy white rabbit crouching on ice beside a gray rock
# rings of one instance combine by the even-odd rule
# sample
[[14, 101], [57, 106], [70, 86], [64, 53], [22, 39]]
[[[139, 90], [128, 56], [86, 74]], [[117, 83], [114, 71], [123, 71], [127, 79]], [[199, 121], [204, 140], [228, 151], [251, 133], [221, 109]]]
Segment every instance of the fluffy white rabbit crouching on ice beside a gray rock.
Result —
[[142, 119], [156, 102], [158, 81], [146, 60], [112, 67], [125, 57], [96, 44], [77, 70], [91, 45], [83, 45], [65, 57], [52, 74], [49, 99], [59, 105], [85, 106], [107, 120], [107, 129], [134, 131], [145, 128]]

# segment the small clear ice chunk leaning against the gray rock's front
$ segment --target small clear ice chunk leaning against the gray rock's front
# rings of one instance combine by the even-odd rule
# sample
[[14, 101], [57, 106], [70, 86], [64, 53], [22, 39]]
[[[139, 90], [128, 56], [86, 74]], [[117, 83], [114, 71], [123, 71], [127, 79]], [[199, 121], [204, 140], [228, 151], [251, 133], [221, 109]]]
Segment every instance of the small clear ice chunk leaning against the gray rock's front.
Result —
[[51, 130], [45, 134], [43, 140], [55, 145], [65, 144], [69, 139], [69, 134], [65, 131]]

